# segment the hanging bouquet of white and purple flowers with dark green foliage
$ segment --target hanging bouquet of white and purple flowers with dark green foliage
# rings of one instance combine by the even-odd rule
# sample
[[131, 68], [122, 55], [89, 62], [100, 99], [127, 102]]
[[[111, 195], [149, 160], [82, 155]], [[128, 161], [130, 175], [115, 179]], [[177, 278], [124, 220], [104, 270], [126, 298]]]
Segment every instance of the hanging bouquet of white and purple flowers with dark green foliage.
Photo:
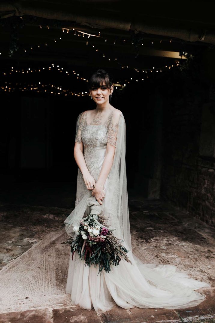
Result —
[[[96, 203], [98, 202], [93, 204]], [[70, 245], [72, 260], [74, 253], [77, 252], [80, 258], [85, 260], [85, 265], [87, 264], [89, 267], [92, 264], [98, 265], [99, 273], [102, 270], [109, 272], [111, 264], [118, 266], [121, 258], [131, 263], [127, 256], [129, 250], [121, 243], [123, 240], [116, 238], [112, 233], [115, 229], [105, 225], [105, 218], [101, 213], [93, 213], [98, 212], [93, 212], [91, 209], [89, 215], [84, 214], [82, 217], [80, 226], [73, 227], [77, 234], [75, 239], [70, 236], [68, 240], [61, 243]]]

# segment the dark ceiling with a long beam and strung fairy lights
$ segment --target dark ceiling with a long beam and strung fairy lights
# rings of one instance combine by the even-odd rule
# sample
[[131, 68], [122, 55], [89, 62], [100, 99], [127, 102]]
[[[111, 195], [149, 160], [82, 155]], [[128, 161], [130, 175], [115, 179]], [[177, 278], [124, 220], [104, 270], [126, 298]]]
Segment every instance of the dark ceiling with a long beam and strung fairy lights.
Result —
[[4, 65], [151, 69], [215, 45], [213, 1], [1, 1]]

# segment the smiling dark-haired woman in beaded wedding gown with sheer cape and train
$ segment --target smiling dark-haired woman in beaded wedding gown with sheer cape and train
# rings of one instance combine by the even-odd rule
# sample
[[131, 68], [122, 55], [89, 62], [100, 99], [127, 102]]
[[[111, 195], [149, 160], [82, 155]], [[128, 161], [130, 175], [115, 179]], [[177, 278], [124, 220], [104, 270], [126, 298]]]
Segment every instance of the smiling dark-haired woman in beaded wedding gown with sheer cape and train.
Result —
[[[109, 103], [113, 93], [112, 79], [99, 69], [89, 81], [91, 99], [96, 108], [82, 112], [77, 118], [74, 157], [78, 165], [75, 208], [64, 221], [66, 231], [73, 236], [84, 213], [89, 214], [89, 198], [101, 206], [107, 226], [122, 239], [131, 263], [121, 259], [111, 271], [98, 275], [98, 265], [85, 266], [75, 252], [70, 253], [66, 293], [71, 304], [96, 312], [110, 310], [116, 304], [129, 309], [186, 308], [205, 299], [195, 290], [211, 287], [179, 272], [174, 265], [144, 264], [132, 254], [125, 147], [126, 130], [123, 113]], [[135, 156], [134, 156], [135, 157]], [[74, 239], [77, 234], [74, 235]]]

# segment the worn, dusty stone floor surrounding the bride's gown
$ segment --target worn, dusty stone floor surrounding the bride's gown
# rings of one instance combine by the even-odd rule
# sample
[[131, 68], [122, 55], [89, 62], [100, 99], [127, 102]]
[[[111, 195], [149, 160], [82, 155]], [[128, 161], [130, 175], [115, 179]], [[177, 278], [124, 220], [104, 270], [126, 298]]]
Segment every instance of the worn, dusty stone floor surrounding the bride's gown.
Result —
[[70, 250], [60, 243], [68, 237], [61, 224], [74, 207], [74, 187], [16, 183], [1, 194], [0, 323], [215, 322], [215, 228], [169, 203], [132, 192], [133, 253], [146, 263], [177, 265], [209, 282], [212, 288], [203, 289], [206, 300], [177, 310], [116, 305], [98, 314], [71, 306], [65, 294]]

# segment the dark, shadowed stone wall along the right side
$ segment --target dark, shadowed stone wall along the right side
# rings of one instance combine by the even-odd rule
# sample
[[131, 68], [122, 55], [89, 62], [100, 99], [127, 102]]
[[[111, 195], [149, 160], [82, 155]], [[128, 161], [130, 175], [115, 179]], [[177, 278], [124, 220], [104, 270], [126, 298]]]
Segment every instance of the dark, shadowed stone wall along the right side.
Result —
[[215, 226], [215, 102], [212, 85], [164, 104], [161, 195]]

